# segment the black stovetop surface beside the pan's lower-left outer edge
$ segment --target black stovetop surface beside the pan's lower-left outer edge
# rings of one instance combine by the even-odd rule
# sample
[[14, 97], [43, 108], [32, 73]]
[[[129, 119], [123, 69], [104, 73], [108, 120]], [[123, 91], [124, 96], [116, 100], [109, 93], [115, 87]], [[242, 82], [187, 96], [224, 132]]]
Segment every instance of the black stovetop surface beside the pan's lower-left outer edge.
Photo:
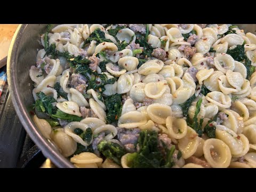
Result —
[[6, 83], [0, 98], [0, 168], [36, 168], [40, 167], [45, 159], [22, 127]]

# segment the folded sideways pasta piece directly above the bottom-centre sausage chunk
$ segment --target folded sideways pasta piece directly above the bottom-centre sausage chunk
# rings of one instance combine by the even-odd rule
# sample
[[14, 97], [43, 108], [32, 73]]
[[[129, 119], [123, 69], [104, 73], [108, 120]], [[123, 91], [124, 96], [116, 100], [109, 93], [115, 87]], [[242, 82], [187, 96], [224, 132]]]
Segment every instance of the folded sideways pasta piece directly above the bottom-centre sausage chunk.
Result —
[[[153, 104], [154, 105], [154, 104]], [[130, 111], [118, 119], [118, 127], [131, 129], [147, 123], [145, 115], [139, 111]]]

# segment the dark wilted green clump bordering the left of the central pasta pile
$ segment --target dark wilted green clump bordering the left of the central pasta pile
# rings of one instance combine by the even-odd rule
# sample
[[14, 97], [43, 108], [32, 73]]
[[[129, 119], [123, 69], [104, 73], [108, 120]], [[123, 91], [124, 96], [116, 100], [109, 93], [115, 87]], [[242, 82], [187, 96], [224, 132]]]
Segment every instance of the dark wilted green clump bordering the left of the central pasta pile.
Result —
[[122, 95], [114, 94], [105, 99], [105, 106], [107, 108], [107, 123], [117, 122], [122, 113]]

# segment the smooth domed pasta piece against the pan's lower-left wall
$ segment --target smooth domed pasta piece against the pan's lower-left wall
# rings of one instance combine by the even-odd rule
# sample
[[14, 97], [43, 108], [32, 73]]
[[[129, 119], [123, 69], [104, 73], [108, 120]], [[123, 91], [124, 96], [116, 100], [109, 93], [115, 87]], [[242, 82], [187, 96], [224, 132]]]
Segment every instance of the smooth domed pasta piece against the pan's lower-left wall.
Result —
[[64, 132], [63, 128], [55, 129], [51, 134], [51, 139], [60, 149], [60, 153], [64, 157], [73, 155], [77, 149], [77, 143], [68, 134]]

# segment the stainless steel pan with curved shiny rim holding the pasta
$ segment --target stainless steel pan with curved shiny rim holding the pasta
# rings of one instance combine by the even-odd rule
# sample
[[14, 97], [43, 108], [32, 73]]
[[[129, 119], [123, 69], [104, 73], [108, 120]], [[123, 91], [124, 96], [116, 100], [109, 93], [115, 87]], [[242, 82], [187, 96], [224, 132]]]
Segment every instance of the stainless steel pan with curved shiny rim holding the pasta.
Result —
[[[238, 24], [245, 33], [256, 33], [256, 24]], [[41, 148], [45, 157], [58, 167], [74, 167], [68, 159], [52, 145], [50, 140], [43, 137], [30, 117], [27, 107], [34, 102], [33, 82], [29, 77], [30, 66], [35, 65], [39, 45], [39, 35], [46, 30], [45, 24], [20, 25], [15, 32], [8, 54], [7, 76], [12, 94], [12, 101], [22, 125], [36, 145]]]

